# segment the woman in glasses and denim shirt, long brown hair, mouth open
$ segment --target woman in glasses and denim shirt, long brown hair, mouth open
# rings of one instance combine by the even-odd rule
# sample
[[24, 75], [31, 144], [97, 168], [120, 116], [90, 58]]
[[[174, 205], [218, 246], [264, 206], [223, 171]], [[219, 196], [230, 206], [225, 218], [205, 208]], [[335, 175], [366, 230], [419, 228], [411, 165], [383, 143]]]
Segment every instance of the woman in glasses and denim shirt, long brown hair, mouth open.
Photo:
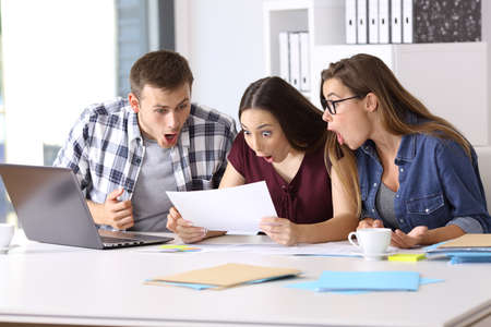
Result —
[[[347, 157], [358, 168], [358, 228], [392, 228], [398, 247], [490, 231], [472, 146], [380, 59], [357, 55], [332, 63], [322, 72], [321, 101], [337, 135], [327, 145], [332, 165]], [[355, 150], [356, 160], [339, 145]]]

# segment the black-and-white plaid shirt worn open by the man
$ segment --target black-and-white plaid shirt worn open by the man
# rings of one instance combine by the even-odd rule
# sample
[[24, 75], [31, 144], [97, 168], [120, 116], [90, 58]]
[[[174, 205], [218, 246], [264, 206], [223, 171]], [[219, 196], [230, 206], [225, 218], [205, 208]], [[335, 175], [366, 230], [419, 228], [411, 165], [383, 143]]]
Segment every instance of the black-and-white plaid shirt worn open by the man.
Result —
[[[170, 153], [178, 191], [216, 189], [236, 134], [230, 117], [191, 105]], [[104, 203], [121, 187], [124, 201], [132, 197], [144, 155], [137, 116], [128, 100], [117, 98], [84, 110], [53, 166], [71, 168], [93, 202]]]

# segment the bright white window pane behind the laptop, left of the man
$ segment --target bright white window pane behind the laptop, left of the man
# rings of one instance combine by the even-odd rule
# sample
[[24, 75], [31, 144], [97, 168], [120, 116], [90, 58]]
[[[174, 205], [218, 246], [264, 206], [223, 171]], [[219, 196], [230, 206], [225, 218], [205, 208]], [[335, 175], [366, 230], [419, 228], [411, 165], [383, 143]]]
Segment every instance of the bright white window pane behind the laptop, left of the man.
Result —
[[3, 0], [7, 161], [43, 165], [89, 104], [116, 95], [113, 1]]

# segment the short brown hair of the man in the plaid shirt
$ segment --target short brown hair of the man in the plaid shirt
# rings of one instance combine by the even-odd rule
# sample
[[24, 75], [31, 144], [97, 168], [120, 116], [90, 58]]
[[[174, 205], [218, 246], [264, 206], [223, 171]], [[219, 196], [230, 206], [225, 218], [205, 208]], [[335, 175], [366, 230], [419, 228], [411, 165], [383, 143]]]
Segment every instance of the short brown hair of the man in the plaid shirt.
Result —
[[136, 98], [140, 98], [145, 85], [172, 90], [184, 83], [189, 83], [191, 88], [193, 81], [188, 60], [169, 50], [146, 53], [136, 60], [130, 71], [131, 92]]

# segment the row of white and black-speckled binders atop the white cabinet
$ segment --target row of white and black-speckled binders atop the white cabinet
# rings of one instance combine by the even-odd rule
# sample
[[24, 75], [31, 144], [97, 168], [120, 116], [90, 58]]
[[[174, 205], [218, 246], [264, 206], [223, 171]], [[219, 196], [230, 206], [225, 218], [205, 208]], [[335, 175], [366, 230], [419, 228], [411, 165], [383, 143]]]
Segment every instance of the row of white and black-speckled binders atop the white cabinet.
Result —
[[481, 40], [480, 0], [345, 0], [347, 44]]

